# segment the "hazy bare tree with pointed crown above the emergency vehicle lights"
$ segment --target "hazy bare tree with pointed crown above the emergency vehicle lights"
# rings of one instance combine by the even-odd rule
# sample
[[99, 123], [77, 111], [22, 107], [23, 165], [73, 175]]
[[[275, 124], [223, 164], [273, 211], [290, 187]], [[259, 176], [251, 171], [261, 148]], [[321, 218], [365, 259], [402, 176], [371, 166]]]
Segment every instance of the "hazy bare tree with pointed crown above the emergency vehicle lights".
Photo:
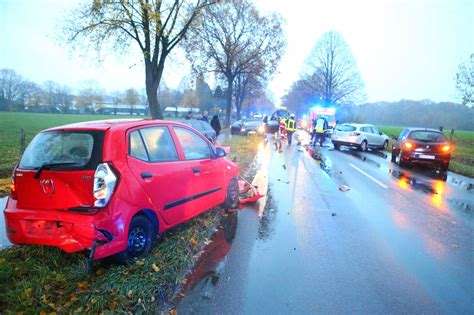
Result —
[[325, 105], [358, 103], [365, 99], [356, 61], [338, 32], [327, 32], [316, 43], [306, 60], [303, 78]]

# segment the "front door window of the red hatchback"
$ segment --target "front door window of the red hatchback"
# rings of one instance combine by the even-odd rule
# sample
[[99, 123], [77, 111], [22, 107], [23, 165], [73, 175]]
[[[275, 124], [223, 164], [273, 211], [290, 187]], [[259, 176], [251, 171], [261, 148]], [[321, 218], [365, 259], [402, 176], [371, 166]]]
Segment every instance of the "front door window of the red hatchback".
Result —
[[186, 160], [203, 160], [212, 157], [209, 144], [195, 132], [181, 127], [175, 127], [174, 130]]

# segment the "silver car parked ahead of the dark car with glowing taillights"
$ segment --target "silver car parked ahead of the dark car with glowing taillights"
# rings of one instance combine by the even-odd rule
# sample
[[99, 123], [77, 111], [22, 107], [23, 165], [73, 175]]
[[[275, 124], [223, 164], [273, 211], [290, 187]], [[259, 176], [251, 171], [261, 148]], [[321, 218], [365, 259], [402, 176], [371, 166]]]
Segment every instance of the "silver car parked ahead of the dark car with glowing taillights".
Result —
[[386, 134], [367, 124], [337, 125], [331, 135], [335, 149], [348, 146], [361, 151], [367, 151], [368, 148], [385, 150], [388, 147], [388, 139]]

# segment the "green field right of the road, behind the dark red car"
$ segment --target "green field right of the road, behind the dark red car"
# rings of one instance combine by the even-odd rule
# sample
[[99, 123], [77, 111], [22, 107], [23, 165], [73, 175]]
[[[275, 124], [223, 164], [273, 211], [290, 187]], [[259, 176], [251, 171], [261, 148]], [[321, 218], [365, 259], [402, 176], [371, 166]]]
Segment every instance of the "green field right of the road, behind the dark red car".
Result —
[[[403, 127], [377, 126], [380, 131], [389, 137], [398, 137]], [[447, 139], [450, 139], [451, 131], [445, 131]], [[474, 131], [455, 130], [451, 140], [454, 146], [449, 170], [461, 175], [474, 177]], [[391, 148], [391, 146], [389, 146]]]

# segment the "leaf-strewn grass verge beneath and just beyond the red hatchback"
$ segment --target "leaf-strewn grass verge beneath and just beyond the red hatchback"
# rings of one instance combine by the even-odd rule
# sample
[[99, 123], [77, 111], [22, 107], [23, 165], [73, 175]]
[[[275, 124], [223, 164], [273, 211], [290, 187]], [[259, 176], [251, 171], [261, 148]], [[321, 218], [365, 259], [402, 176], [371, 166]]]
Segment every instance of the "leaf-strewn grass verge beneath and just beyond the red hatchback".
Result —
[[[228, 158], [237, 157], [241, 174], [247, 172], [261, 140], [229, 137], [223, 143], [231, 147]], [[130, 266], [103, 261], [92, 274], [88, 273], [87, 252], [10, 247], [0, 252], [0, 309], [5, 313], [166, 310], [225, 215], [221, 208], [208, 211], [163, 235], [145, 259]]]

